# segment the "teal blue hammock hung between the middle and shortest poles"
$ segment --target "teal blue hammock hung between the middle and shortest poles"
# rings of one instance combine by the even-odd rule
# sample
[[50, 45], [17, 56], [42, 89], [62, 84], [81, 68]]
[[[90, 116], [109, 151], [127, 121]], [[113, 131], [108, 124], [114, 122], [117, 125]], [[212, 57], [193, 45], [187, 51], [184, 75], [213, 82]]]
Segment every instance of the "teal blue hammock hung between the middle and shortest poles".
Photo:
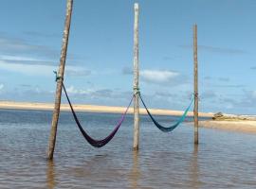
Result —
[[192, 106], [192, 102], [193, 102], [193, 98], [192, 98], [192, 101], [191, 101], [189, 107], [185, 110], [185, 112], [182, 114], [182, 116], [177, 120], [177, 122], [176, 122], [174, 125], [172, 125], [172, 126], [170, 126], [170, 127], [163, 127], [163, 126], [161, 126], [161, 125], [155, 120], [155, 118], [153, 117], [153, 115], [149, 112], [149, 110], [148, 110], [146, 104], [144, 103], [144, 101], [143, 101], [143, 99], [142, 99], [142, 97], [141, 97], [140, 94], [139, 94], [139, 97], [140, 97], [140, 99], [141, 99], [141, 102], [142, 102], [143, 106], [145, 107], [146, 111], [148, 112], [150, 118], [152, 119], [153, 123], [155, 124], [155, 126], [156, 126], [158, 129], [162, 130], [163, 132], [171, 132], [171, 131], [173, 131], [176, 127], [178, 127], [178, 125], [181, 124], [181, 123], [185, 120], [185, 117], [186, 117], [187, 113], [189, 112], [189, 110], [190, 110], [190, 108], [191, 108], [191, 106]]

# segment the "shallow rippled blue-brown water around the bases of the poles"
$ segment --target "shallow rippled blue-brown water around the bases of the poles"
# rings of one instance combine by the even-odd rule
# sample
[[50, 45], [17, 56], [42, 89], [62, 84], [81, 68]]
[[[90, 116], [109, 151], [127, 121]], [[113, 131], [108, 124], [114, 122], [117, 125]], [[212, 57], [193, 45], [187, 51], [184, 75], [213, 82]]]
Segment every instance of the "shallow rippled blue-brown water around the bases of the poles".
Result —
[[[104, 137], [119, 114], [79, 113], [84, 129]], [[168, 124], [175, 117], [157, 116]], [[129, 115], [114, 139], [89, 146], [62, 112], [54, 161], [46, 161], [51, 112], [0, 111], [0, 188], [255, 188], [256, 135], [186, 124], [163, 133], [141, 118], [140, 148]]]

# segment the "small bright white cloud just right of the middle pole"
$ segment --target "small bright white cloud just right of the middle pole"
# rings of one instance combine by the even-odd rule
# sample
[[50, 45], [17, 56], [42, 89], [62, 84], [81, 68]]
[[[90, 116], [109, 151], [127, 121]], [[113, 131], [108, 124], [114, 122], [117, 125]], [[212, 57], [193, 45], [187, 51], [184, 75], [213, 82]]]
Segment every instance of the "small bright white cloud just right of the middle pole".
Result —
[[167, 83], [172, 81], [174, 77], [178, 77], [179, 73], [169, 70], [142, 70], [140, 76], [143, 80], [153, 83]]

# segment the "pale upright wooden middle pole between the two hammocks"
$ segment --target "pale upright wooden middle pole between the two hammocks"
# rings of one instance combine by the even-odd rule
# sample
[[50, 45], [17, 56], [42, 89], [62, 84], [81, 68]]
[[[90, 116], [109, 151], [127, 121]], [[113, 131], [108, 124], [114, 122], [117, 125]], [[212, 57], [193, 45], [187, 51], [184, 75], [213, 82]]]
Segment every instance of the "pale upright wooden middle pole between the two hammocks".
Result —
[[139, 140], [139, 105], [138, 105], [138, 4], [135, 4], [134, 25], [134, 150], [138, 150]]

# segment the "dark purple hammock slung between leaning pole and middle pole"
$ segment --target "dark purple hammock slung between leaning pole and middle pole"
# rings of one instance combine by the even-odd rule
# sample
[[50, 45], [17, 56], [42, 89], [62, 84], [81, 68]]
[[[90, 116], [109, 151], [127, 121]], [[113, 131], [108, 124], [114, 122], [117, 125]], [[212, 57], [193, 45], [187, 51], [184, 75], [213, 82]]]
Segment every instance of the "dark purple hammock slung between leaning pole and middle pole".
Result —
[[64, 94], [65, 94], [66, 99], [67, 99], [67, 101], [68, 101], [68, 104], [69, 104], [69, 106], [70, 106], [70, 109], [71, 109], [71, 112], [72, 112], [72, 114], [73, 114], [73, 117], [74, 117], [74, 119], [75, 119], [75, 121], [76, 121], [76, 123], [77, 123], [77, 125], [78, 125], [78, 127], [79, 127], [79, 129], [80, 129], [80, 131], [82, 132], [82, 136], [84, 137], [84, 139], [85, 139], [91, 146], [94, 146], [94, 147], [102, 147], [102, 146], [105, 146], [106, 144], [108, 144], [108, 143], [113, 139], [113, 137], [115, 136], [115, 134], [118, 132], [118, 130], [119, 130], [119, 128], [120, 128], [120, 126], [121, 126], [121, 124], [122, 124], [124, 118], [125, 118], [125, 115], [126, 115], [126, 113], [128, 112], [129, 107], [131, 106], [132, 101], [133, 101], [133, 99], [134, 99], [134, 95], [133, 95], [133, 97], [132, 97], [132, 99], [131, 99], [131, 101], [130, 101], [128, 107], [127, 107], [127, 109], [125, 110], [125, 112], [122, 113], [122, 116], [121, 116], [121, 118], [119, 119], [119, 123], [117, 124], [116, 128], [115, 128], [106, 138], [104, 138], [104, 139], [102, 139], [102, 140], [95, 140], [95, 139], [93, 139], [92, 137], [90, 137], [90, 136], [85, 132], [84, 129], [82, 129], [82, 126], [81, 126], [81, 123], [80, 123], [80, 121], [79, 121], [79, 119], [78, 119], [78, 116], [77, 116], [76, 112], [74, 111], [73, 106], [72, 106], [72, 104], [71, 104], [71, 102], [70, 102], [70, 100], [69, 100], [69, 97], [68, 97], [67, 93], [66, 93], [66, 90], [65, 90], [65, 87], [64, 87], [64, 83], [63, 83], [63, 88], [64, 88]]

